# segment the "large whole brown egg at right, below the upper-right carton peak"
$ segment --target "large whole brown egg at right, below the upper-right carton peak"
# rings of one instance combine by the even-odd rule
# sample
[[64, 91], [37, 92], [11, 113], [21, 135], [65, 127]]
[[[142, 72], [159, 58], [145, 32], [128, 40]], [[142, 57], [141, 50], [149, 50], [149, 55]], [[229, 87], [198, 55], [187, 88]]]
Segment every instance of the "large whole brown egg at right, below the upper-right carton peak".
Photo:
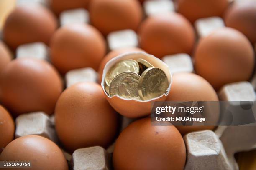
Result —
[[200, 40], [195, 70], [218, 90], [225, 84], [249, 80], [254, 53], [248, 39], [233, 28], [221, 28]]

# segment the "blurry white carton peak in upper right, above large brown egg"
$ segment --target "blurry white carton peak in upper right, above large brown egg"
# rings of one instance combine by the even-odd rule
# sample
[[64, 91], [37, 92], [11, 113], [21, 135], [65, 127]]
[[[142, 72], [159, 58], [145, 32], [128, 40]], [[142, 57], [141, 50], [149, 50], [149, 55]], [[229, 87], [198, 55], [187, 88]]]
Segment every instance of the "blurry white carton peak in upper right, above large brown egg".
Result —
[[200, 18], [195, 21], [195, 29], [200, 38], [208, 36], [212, 31], [225, 27], [220, 17]]

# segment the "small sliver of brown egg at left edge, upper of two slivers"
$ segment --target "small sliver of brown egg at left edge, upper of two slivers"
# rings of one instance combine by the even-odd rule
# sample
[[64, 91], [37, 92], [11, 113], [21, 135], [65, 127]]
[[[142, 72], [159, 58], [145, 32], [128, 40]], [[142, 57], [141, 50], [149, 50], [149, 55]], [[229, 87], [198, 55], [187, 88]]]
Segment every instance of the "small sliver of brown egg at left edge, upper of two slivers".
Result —
[[0, 73], [6, 65], [12, 60], [12, 55], [5, 44], [0, 41]]

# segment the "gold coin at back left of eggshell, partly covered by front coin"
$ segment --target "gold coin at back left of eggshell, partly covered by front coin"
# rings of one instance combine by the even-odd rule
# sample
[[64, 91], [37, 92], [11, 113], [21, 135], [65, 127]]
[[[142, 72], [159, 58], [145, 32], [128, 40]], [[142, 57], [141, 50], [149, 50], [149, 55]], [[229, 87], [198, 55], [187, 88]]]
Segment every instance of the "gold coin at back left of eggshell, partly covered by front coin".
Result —
[[108, 70], [107, 75], [105, 77], [105, 82], [107, 85], [110, 85], [111, 81], [122, 72], [134, 72], [136, 74], [139, 73], [140, 67], [138, 62], [135, 60], [122, 60], [115, 65], [113, 65], [110, 70]]

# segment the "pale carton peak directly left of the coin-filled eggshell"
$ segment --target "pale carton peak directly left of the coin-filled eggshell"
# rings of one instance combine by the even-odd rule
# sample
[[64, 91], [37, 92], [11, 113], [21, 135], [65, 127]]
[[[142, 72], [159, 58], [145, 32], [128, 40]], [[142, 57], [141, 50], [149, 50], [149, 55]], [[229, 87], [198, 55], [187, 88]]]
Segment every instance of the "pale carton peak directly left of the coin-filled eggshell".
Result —
[[97, 82], [97, 77], [97, 72], [94, 69], [87, 67], [70, 70], [66, 73], [65, 80], [67, 87], [70, 87], [78, 82]]

